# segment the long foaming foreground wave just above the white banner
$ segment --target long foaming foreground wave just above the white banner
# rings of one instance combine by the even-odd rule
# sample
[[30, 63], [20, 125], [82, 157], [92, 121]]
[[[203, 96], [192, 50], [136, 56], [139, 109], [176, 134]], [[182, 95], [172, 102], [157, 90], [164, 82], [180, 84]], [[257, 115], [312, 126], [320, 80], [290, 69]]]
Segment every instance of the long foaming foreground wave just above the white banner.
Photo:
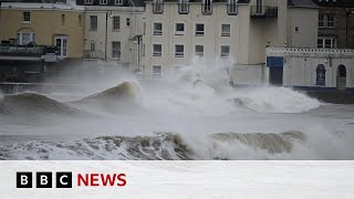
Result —
[[[199, 143], [198, 143], [199, 142]], [[71, 142], [24, 142], [0, 145], [0, 159], [248, 159], [244, 150], [263, 154], [256, 159], [283, 159], [295, 143], [306, 142], [301, 132], [281, 134], [221, 133], [206, 140], [186, 140], [173, 133], [153, 136], [100, 136]], [[202, 149], [198, 149], [202, 147]], [[225, 153], [226, 149], [228, 153]], [[222, 154], [223, 153], [223, 154]], [[277, 156], [284, 155], [285, 156]], [[252, 158], [254, 158], [252, 156]]]

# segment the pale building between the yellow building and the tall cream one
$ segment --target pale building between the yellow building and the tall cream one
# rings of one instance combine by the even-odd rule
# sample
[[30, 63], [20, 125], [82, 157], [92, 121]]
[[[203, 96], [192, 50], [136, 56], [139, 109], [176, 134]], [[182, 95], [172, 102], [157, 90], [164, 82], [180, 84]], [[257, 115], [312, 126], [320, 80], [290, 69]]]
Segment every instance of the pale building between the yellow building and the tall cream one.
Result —
[[138, 70], [144, 2], [140, 0], [83, 0], [84, 57]]

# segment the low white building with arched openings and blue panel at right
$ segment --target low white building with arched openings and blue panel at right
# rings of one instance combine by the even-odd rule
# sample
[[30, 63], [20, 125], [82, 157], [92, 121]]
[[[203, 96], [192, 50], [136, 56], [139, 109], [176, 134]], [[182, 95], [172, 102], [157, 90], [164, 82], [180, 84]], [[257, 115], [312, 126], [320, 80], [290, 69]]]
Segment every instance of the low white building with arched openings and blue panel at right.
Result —
[[354, 91], [354, 50], [267, 49], [271, 83], [305, 91]]

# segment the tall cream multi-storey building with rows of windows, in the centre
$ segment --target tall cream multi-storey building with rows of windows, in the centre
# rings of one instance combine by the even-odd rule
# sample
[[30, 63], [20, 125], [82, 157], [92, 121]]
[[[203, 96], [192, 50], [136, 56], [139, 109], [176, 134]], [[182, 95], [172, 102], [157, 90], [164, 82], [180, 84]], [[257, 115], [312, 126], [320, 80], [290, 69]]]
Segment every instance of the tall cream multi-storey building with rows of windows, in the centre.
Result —
[[146, 1], [143, 73], [168, 76], [195, 56], [228, 60], [235, 84], [266, 81], [267, 46], [315, 48], [311, 0]]

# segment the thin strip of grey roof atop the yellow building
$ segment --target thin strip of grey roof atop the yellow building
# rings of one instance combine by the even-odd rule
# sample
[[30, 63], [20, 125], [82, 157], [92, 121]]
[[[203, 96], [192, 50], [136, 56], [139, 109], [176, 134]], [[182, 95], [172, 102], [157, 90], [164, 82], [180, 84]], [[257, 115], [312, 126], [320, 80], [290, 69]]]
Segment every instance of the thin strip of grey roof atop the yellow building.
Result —
[[83, 7], [67, 4], [67, 3], [28, 3], [28, 2], [3, 2], [1, 3], [1, 8], [84, 10]]

